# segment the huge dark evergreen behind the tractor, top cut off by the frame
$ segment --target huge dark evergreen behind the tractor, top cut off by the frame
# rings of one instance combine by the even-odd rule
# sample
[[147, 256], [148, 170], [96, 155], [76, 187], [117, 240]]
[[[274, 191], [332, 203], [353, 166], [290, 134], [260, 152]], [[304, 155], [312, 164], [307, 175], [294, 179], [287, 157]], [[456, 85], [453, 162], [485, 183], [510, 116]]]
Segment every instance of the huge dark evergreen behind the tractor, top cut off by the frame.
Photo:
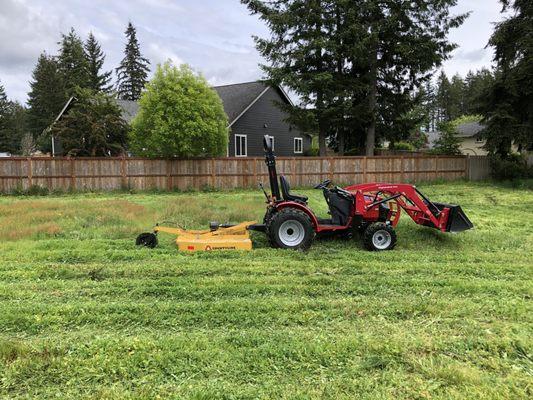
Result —
[[326, 137], [346, 132], [346, 122], [355, 126], [349, 136], [359, 136], [350, 140], [373, 154], [386, 133], [377, 130], [405, 121], [413, 90], [455, 48], [446, 36], [465, 18], [449, 14], [457, 0], [242, 2], [267, 23], [271, 37], [256, 38], [270, 62], [264, 70], [311, 109], [321, 154]]

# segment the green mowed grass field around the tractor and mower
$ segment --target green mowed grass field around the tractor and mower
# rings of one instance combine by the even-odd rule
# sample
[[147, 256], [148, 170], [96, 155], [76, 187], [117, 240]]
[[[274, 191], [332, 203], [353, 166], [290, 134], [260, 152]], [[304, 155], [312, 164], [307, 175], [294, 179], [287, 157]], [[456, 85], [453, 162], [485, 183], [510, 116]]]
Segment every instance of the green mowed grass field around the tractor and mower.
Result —
[[262, 194], [0, 198], [0, 398], [531, 399], [533, 191], [420, 187], [476, 228], [180, 254], [134, 239], [260, 219]]

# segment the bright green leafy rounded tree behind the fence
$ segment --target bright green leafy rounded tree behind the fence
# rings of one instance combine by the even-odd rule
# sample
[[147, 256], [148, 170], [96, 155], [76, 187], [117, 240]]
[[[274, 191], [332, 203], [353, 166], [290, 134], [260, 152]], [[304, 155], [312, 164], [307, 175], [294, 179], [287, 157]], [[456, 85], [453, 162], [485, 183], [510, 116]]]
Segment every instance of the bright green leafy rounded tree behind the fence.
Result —
[[222, 101], [189, 66], [157, 67], [132, 122], [131, 151], [147, 157], [221, 156], [228, 144]]

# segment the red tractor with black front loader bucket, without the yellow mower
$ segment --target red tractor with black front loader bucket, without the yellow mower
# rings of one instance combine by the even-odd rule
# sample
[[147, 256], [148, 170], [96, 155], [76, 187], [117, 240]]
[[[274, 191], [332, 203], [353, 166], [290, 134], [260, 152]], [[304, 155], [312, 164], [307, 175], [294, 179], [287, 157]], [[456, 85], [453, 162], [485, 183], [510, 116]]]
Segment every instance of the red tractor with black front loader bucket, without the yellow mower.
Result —
[[291, 192], [285, 176], [276, 171], [276, 157], [265, 137], [270, 190], [263, 224], [250, 230], [265, 232], [275, 248], [307, 249], [315, 236], [338, 234], [350, 237], [361, 232], [368, 250], [392, 250], [396, 245], [394, 228], [402, 210], [415, 223], [442, 232], [462, 232], [473, 227], [460, 206], [431, 202], [415, 186], [366, 183], [340, 188], [326, 180], [315, 186], [322, 190], [331, 218], [318, 218], [306, 196]]

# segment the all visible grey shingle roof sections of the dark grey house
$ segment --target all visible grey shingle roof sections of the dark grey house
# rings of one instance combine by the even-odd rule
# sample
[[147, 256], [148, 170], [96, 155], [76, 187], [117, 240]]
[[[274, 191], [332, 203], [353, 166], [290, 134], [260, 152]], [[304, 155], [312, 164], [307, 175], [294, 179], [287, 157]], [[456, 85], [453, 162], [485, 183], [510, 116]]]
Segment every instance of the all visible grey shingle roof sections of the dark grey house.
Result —
[[[267, 92], [270, 86], [262, 81], [237, 83], [233, 85], [215, 86], [228, 116], [229, 125], [233, 125], [248, 109]], [[279, 92], [287, 102], [291, 102], [287, 94], [279, 88]], [[139, 104], [130, 100], [117, 100], [122, 109], [122, 116], [130, 123], [139, 112]]]

